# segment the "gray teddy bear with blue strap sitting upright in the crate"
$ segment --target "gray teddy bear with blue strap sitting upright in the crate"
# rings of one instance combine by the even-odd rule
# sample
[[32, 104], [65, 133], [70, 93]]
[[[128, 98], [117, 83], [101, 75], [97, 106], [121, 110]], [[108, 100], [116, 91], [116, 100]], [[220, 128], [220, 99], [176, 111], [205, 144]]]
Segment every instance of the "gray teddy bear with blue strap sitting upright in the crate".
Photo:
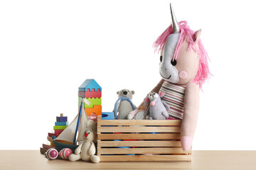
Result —
[[[118, 98], [124, 97], [132, 100], [132, 96], [134, 95], [134, 91], [130, 91], [128, 89], [122, 89], [121, 91], [117, 91]], [[136, 108], [136, 106], [134, 106]], [[117, 103], [117, 119], [127, 119], [127, 115], [133, 111], [132, 104], [129, 101], [119, 101]]]

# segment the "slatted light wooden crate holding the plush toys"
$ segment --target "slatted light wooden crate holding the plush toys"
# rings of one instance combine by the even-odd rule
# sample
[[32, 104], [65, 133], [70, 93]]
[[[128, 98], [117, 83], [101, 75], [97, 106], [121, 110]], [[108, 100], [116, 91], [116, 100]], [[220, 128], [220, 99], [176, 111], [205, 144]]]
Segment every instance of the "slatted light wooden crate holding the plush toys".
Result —
[[102, 120], [99, 115], [97, 156], [100, 162], [190, 162], [191, 151], [183, 152], [180, 132], [181, 120]]

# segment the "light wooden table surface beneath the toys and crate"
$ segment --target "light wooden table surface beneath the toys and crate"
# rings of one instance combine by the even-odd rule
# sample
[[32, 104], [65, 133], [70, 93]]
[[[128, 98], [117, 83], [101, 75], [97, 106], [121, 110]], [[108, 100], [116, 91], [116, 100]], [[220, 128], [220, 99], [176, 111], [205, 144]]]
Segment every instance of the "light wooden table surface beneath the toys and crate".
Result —
[[1, 150], [0, 169], [256, 169], [256, 151], [193, 151], [192, 162], [49, 161], [37, 150]]

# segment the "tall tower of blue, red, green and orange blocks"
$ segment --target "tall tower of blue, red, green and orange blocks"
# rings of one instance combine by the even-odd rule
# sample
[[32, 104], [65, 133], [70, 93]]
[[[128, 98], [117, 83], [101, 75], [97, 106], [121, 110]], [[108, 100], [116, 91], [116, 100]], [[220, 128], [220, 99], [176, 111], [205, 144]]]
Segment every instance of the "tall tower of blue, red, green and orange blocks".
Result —
[[92, 113], [96, 115], [102, 114], [101, 105], [102, 88], [95, 81], [95, 79], [86, 79], [81, 86], [78, 88], [78, 109], [80, 109], [80, 104], [82, 97], [90, 101], [90, 105], [84, 103], [85, 113], [90, 116]]

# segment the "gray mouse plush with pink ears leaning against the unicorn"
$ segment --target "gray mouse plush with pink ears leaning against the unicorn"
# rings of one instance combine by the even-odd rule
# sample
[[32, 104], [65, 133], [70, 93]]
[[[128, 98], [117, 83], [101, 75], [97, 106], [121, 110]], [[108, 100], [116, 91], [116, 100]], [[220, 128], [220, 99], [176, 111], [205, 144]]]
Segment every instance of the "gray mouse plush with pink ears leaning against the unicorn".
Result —
[[149, 119], [166, 120], [169, 118], [169, 113], [167, 112], [169, 106], [164, 101], [161, 101], [161, 97], [163, 96], [164, 92], [160, 92], [159, 94], [151, 92], [144, 98], [146, 103], [150, 101], [149, 108], [146, 111], [146, 115], [149, 115]]

